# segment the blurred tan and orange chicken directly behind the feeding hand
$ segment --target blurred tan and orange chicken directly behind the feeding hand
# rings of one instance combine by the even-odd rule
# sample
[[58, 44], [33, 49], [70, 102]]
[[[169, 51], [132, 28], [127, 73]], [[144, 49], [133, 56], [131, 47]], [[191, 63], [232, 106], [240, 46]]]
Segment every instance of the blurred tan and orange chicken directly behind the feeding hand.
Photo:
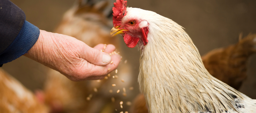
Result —
[[[79, 0], [64, 14], [55, 32], [75, 37], [91, 47], [99, 43], [113, 44], [122, 55], [120, 38], [109, 35], [112, 6], [113, 1]], [[123, 60], [116, 72], [103, 80], [74, 82], [57, 71], [49, 70], [44, 92], [39, 95], [44, 95], [45, 103], [51, 107], [52, 113], [113, 113], [115, 109], [121, 109], [120, 101], [132, 100], [123, 91], [123, 88], [132, 87], [131, 66], [124, 64]], [[128, 110], [128, 107], [123, 109]]]

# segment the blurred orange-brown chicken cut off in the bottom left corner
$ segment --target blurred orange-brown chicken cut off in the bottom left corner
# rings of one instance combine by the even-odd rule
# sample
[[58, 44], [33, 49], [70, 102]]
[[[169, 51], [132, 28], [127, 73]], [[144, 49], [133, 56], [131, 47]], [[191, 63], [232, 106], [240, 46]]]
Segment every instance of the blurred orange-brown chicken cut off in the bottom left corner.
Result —
[[49, 113], [45, 104], [0, 69], [0, 113]]

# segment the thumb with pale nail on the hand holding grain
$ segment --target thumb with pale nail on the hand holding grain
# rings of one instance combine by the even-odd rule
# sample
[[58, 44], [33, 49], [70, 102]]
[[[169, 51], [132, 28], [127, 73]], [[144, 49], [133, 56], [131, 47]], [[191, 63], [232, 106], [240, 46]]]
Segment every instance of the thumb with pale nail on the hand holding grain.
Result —
[[87, 46], [86, 49], [84, 49], [82, 58], [91, 64], [98, 66], [105, 66], [111, 61], [111, 56], [109, 54], [101, 52], [98, 49], [91, 48], [90, 46]]

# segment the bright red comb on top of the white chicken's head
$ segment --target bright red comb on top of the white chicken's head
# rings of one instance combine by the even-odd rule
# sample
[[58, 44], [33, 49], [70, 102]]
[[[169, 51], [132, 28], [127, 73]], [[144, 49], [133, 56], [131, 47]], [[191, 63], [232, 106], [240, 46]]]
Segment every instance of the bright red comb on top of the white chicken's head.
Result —
[[114, 27], [121, 24], [121, 19], [126, 15], [126, 6], [127, 1], [126, 0], [117, 0], [114, 3], [114, 6], [112, 8], [113, 10], [113, 25]]

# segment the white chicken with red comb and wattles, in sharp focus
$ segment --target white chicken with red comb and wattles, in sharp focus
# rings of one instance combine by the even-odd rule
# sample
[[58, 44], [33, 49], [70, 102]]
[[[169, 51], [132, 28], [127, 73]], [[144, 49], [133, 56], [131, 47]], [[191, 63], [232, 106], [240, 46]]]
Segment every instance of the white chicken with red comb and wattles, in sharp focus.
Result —
[[152, 11], [113, 7], [111, 35], [121, 34], [128, 47], [141, 50], [139, 88], [149, 113], [255, 113], [256, 100], [214, 78], [184, 31]]

